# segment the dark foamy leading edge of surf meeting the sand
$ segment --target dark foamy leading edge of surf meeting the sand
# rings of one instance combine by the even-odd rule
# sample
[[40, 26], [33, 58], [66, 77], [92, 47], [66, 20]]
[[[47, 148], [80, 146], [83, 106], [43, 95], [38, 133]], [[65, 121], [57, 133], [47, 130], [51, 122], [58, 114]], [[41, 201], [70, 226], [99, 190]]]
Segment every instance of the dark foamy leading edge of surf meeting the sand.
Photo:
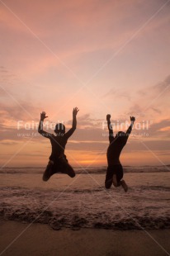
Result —
[[61, 230], [69, 228], [79, 230], [81, 228], [95, 228], [106, 230], [160, 230], [170, 229], [170, 217], [137, 217], [122, 218], [121, 220], [101, 219], [95, 220], [95, 216], [89, 218], [82, 217], [77, 214], [68, 216], [54, 216], [52, 211], [42, 211], [42, 209], [16, 210], [16, 211], [0, 211], [2, 220], [17, 220], [22, 223], [42, 223], [48, 224], [53, 230]]

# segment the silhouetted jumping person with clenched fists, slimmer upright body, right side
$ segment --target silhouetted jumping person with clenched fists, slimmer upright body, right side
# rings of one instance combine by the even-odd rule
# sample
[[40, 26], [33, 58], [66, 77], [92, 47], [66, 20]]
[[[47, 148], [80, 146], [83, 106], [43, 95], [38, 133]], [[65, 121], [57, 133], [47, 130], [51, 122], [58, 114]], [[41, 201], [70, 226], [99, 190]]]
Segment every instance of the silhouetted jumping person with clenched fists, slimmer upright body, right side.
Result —
[[110, 188], [111, 184], [113, 183], [115, 187], [121, 185], [124, 188], [125, 192], [127, 192], [128, 186], [125, 183], [125, 180], [122, 179], [123, 168], [120, 164], [120, 153], [129, 138], [132, 126], [135, 122], [135, 117], [130, 116], [131, 124], [128, 130], [126, 132], [119, 131], [115, 137], [113, 135], [113, 130], [111, 127], [111, 115], [106, 116], [106, 121], [109, 129], [110, 145], [106, 153], [108, 167], [106, 171], [105, 187]]

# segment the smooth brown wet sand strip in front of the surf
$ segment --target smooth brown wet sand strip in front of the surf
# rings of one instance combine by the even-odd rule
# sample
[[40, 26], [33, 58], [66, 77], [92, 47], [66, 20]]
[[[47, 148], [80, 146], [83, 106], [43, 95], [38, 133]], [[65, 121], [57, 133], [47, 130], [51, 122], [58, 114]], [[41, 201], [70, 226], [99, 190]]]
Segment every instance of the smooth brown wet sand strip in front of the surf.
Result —
[[170, 255], [170, 230], [52, 230], [12, 220], [0, 220], [0, 228], [4, 256]]

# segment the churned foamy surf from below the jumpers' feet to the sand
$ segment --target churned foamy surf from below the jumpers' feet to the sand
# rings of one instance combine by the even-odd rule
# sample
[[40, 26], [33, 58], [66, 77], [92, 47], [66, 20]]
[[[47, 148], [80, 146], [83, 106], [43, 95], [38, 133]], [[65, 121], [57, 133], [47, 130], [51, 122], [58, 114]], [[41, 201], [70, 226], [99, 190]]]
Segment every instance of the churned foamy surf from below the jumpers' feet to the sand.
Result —
[[1, 187], [0, 216], [3, 220], [48, 224], [54, 230], [169, 229], [169, 192], [170, 187], [137, 186], [124, 197], [117, 190], [109, 197], [102, 187], [67, 192]]

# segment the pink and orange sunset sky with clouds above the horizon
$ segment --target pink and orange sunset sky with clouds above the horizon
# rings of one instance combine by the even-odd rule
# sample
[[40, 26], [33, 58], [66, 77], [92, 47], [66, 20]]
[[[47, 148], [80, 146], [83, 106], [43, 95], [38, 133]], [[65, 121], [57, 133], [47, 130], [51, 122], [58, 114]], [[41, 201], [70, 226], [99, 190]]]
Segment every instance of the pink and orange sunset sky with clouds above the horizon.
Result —
[[170, 1], [0, 0], [0, 166], [45, 166], [37, 133], [78, 126], [73, 166], [106, 166], [106, 114], [115, 134], [135, 126], [123, 165], [170, 164]]

